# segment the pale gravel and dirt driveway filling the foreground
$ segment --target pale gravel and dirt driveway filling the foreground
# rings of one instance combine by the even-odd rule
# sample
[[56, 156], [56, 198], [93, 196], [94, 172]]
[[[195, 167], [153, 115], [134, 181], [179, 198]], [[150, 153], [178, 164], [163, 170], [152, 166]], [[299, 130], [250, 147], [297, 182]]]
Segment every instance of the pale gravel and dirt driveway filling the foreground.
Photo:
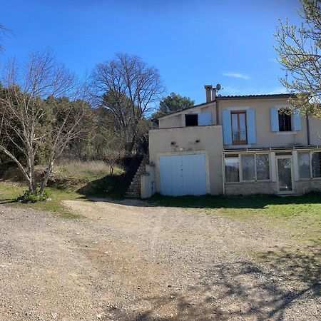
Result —
[[320, 252], [143, 202], [0, 207], [0, 320], [321, 320]]

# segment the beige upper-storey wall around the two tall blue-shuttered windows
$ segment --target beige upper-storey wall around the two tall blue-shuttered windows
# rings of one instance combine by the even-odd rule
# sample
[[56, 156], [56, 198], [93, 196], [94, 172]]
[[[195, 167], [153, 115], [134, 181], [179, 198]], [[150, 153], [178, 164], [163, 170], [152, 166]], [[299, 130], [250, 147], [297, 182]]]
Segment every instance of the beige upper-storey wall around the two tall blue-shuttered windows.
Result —
[[[220, 101], [220, 123], [222, 111], [226, 109], [246, 110], [255, 109], [256, 123], [256, 144], [243, 146], [249, 148], [270, 148], [287, 146], [307, 146], [307, 123], [302, 117], [302, 131], [296, 133], [277, 133], [271, 131], [270, 108], [280, 108], [281, 106], [290, 107], [287, 99], [248, 99], [248, 100], [228, 100]], [[321, 131], [321, 120], [310, 120], [310, 145], [320, 145], [321, 141], [317, 138], [317, 131]], [[319, 143], [317, 143], [319, 141]], [[225, 148], [240, 148], [242, 146], [225, 146]]]

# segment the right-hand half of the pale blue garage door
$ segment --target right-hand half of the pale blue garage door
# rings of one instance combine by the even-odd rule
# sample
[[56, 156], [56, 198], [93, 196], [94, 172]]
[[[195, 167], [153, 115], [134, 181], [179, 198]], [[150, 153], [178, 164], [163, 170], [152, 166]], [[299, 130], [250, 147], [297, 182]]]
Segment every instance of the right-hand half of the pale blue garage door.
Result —
[[205, 155], [183, 156], [183, 195], [206, 194]]

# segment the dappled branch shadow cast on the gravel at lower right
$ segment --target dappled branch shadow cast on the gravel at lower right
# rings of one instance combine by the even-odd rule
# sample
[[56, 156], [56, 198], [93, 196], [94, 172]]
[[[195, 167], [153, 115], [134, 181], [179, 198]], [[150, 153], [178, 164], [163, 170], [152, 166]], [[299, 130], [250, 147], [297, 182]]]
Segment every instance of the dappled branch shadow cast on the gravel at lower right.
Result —
[[141, 307], [152, 306], [145, 312], [107, 312], [128, 321], [318, 320], [320, 252], [308, 250], [310, 255], [284, 250], [264, 253], [258, 264], [214, 265], [184, 292], [173, 287], [167, 295], [135, 302]]

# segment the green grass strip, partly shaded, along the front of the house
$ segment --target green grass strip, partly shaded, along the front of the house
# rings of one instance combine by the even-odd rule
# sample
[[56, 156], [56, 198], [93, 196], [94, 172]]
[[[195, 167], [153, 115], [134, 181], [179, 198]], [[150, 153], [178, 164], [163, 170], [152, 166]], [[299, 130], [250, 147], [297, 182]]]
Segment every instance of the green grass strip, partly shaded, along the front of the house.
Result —
[[320, 194], [287, 198], [276, 195], [246, 197], [206, 195], [175, 198], [154, 195], [148, 202], [220, 215], [275, 230], [285, 230], [287, 236], [293, 240], [321, 244]]

